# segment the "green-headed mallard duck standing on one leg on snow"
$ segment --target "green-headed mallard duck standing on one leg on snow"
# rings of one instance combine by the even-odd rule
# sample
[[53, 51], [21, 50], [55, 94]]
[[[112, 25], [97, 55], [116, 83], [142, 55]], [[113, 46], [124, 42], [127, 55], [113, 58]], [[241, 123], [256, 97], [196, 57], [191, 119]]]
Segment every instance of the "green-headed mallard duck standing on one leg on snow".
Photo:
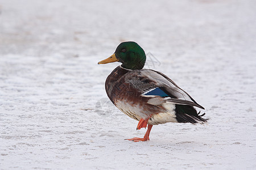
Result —
[[167, 122], [200, 123], [207, 119], [194, 107], [204, 109], [187, 92], [159, 71], [143, 69], [144, 50], [136, 42], [122, 42], [115, 52], [98, 64], [121, 62], [108, 76], [105, 89], [109, 99], [120, 111], [139, 121], [137, 130], [147, 128], [143, 138], [129, 141], [148, 141], [153, 125]]

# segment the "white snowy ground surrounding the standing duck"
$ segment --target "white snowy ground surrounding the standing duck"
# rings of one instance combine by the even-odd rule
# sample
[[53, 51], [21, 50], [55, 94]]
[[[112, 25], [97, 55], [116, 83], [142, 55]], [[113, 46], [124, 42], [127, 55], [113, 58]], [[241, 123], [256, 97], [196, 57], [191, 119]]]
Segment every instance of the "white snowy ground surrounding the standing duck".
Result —
[[[0, 0], [0, 169], [256, 169], [255, 6]], [[100, 114], [118, 63], [97, 62], [128, 40], [206, 108], [208, 126], [123, 140], [146, 130], [117, 109]]]

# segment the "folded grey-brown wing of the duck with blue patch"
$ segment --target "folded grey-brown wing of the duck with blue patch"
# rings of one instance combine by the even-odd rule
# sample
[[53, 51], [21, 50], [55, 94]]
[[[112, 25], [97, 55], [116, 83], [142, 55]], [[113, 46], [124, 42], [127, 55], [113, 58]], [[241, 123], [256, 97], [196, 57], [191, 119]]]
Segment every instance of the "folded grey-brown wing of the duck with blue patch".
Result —
[[[156, 103], [159, 101], [168, 101], [174, 104], [192, 105], [204, 109], [204, 107], [197, 104], [187, 92], [178, 87], [168, 76], [158, 71], [150, 69], [134, 70], [126, 76], [125, 82], [140, 91], [142, 96], [151, 97], [150, 103], [154, 103], [153, 101]], [[158, 88], [157, 92], [155, 90], [156, 88]], [[152, 92], [154, 90], [155, 92]]]

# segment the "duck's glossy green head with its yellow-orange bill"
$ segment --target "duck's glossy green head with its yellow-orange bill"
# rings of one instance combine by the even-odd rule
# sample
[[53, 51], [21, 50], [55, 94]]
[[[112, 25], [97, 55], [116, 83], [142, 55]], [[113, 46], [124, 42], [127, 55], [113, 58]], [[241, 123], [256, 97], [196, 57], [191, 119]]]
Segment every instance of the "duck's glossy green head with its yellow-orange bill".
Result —
[[117, 61], [121, 62], [122, 67], [126, 69], [142, 69], [146, 62], [146, 54], [141, 46], [139, 46], [136, 42], [122, 42], [117, 46], [117, 49], [115, 49], [115, 53], [112, 56], [98, 62], [98, 64]]

